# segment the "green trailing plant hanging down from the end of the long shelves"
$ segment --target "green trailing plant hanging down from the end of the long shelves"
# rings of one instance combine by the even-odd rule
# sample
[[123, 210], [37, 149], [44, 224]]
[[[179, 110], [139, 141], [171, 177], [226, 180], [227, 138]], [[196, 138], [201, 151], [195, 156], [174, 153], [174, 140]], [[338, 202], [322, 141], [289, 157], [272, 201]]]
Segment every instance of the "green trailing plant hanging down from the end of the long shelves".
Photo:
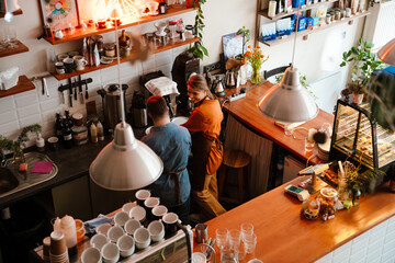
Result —
[[204, 4], [206, 0], [194, 0], [194, 8], [196, 10], [196, 16], [195, 16], [195, 23], [194, 23], [194, 31], [195, 36], [199, 37], [199, 41], [193, 43], [193, 46], [189, 48], [187, 52], [193, 54], [194, 57], [199, 57], [200, 59], [203, 59], [204, 56], [208, 56], [207, 48], [203, 46], [203, 10], [202, 4]]

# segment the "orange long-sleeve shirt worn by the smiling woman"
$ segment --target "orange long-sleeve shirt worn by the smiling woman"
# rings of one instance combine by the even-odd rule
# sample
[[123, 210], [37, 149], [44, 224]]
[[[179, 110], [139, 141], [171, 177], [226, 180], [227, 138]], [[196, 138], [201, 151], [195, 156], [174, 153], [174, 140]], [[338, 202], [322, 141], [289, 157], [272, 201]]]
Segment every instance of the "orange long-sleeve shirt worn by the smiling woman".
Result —
[[[223, 118], [224, 115], [221, 111], [219, 102], [217, 100], [204, 100], [201, 105], [192, 111], [191, 116], [182, 126], [188, 128], [191, 134], [203, 132], [204, 135], [216, 139], [221, 133], [221, 122]], [[215, 173], [221, 162], [222, 152], [214, 140], [206, 165], [207, 174]]]

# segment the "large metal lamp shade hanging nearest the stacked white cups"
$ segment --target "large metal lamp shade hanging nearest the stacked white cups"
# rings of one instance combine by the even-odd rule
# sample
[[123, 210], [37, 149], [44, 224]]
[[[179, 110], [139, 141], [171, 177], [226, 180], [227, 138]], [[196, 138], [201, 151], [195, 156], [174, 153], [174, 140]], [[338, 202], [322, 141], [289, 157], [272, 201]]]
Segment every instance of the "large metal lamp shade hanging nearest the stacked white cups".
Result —
[[131, 125], [115, 126], [114, 140], [106, 145], [89, 168], [92, 181], [113, 191], [129, 191], [155, 182], [163, 170], [160, 158], [137, 140]]

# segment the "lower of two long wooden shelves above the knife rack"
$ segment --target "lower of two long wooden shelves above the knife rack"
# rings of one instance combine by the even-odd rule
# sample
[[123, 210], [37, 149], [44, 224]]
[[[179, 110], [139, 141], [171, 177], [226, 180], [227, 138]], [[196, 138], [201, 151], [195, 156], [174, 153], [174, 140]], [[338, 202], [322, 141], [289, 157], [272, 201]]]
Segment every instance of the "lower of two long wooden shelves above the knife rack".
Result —
[[[161, 47], [158, 47], [157, 49], [153, 50], [153, 54], [157, 54], [157, 53], [166, 52], [166, 50], [169, 50], [171, 48], [179, 47], [179, 46], [184, 46], [184, 45], [188, 45], [188, 44], [192, 44], [192, 43], [195, 43], [198, 41], [199, 41], [199, 37], [193, 37], [193, 38], [190, 38], [190, 39], [185, 39], [184, 42], [177, 42], [174, 44], [169, 44], [169, 45], [166, 45], [166, 46], [161, 46]], [[131, 56], [133, 56], [133, 55], [134, 55], [134, 50], [132, 49], [131, 50]], [[128, 59], [129, 59], [129, 57], [121, 58], [121, 64], [127, 62]], [[95, 71], [95, 70], [100, 70], [100, 69], [103, 69], [103, 68], [109, 68], [109, 67], [112, 67], [112, 66], [115, 66], [115, 65], [116, 65], [116, 59], [114, 59], [114, 61], [111, 62], [111, 64], [101, 64], [98, 67], [95, 67], [95, 66], [87, 66], [83, 70], [78, 70], [78, 71], [75, 71], [72, 73], [58, 75], [58, 73], [52, 72], [52, 75], [57, 80], [64, 80], [64, 79], [68, 79], [68, 78], [71, 78], [71, 77], [79, 76], [79, 75], [83, 75], [83, 73], [92, 72], [92, 71]]]

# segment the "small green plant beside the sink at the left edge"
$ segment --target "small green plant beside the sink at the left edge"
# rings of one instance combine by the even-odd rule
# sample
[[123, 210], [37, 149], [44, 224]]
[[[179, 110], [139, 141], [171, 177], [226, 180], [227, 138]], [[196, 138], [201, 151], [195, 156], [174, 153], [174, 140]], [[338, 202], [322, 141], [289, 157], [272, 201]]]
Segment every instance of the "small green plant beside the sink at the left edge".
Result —
[[24, 162], [23, 147], [24, 142], [29, 140], [27, 135], [30, 133], [41, 133], [42, 126], [40, 124], [33, 124], [22, 129], [16, 140], [11, 140], [0, 135], [0, 150], [9, 150], [13, 152], [13, 160], [15, 163]]

